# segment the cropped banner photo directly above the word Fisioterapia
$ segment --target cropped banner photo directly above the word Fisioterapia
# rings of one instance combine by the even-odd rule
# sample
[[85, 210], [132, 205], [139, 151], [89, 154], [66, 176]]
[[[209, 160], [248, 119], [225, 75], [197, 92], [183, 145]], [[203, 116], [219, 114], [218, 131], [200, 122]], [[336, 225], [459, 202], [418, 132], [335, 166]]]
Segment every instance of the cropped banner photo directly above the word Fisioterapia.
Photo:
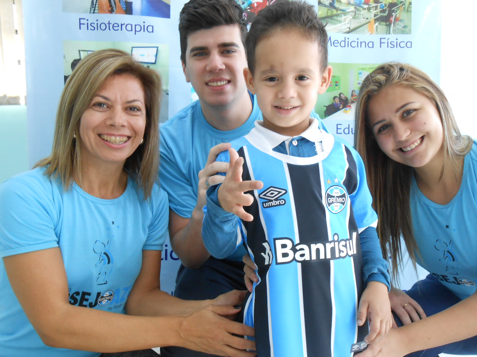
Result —
[[63, 12], [140, 15], [170, 19], [171, 0], [62, 0]]

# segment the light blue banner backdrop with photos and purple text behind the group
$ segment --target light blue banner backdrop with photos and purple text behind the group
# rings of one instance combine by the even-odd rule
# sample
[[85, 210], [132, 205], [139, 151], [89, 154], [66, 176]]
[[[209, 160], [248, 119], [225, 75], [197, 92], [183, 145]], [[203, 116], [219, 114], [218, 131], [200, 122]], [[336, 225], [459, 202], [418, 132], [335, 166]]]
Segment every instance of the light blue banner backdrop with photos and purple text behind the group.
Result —
[[[288, 0], [238, 0], [249, 23], [275, 1]], [[161, 122], [197, 99], [179, 59], [178, 15], [185, 2], [23, 0], [30, 167], [50, 154], [64, 82], [79, 60], [94, 50], [125, 50], [161, 74]], [[353, 142], [354, 105], [340, 104], [340, 97], [343, 103], [345, 98], [352, 101], [364, 77], [378, 64], [411, 63], [439, 81], [439, 0], [308, 2], [328, 22], [329, 61], [334, 69], [332, 83], [318, 98], [315, 111], [338, 136]], [[169, 241], [162, 256], [161, 287], [172, 293], [179, 261]]]

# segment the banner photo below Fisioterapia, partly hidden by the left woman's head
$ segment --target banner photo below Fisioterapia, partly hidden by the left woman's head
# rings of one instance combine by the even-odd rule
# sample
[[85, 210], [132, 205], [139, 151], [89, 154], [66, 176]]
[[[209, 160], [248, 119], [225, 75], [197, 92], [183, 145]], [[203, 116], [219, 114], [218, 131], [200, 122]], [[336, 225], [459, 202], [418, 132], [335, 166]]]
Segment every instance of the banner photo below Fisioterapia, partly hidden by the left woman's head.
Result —
[[96, 50], [117, 49], [131, 53], [143, 66], [155, 69], [162, 78], [162, 98], [159, 121], [168, 119], [169, 107], [169, 46], [164, 44], [113, 42], [113, 41], [63, 41], [64, 82], [85, 56]]

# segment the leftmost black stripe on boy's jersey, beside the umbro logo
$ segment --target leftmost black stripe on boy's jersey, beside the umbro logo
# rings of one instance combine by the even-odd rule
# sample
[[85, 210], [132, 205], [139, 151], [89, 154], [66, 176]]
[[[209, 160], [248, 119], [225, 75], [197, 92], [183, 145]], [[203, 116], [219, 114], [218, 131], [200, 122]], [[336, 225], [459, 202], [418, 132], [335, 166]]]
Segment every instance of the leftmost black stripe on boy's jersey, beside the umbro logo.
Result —
[[[244, 149], [240, 148], [239, 156], [244, 158], [243, 163], [243, 172], [242, 180], [248, 181], [251, 180], [251, 175], [249, 173], [249, 168], [247, 166], [247, 159], [244, 154]], [[253, 197], [253, 203], [244, 207], [244, 210], [250, 213], [255, 219], [251, 222], [242, 220], [244, 227], [247, 229], [247, 232], [253, 232], [253, 239], [247, 239], [247, 245], [250, 250], [255, 255], [255, 265], [258, 268], [258, 275], [260, 277], [260, 284], [255, 288], [255, 302], [254, 302], [254, 327], [255, 327], [255, 340], [257, 341], [257, 347], [259, 346], [270, 346], [270, 335], [269, 335], [269, 310], [268, 310], [268, 291], [267, 291], [267, 272], [270, 268], [270, 264], [265, 265], [265, 258], [260, 254], [261, 252], [265, 253], [266, 248], [262, 243], [267, 243], [268, 241], [265, 237], [265, 231], [262, 227], [260, 220], [259, 212], [259, 202], [254, 195], [253, 191], [248, 191]], [[242, 306], [245, 306], [245, 301]], [[260, 314], [260, 318], [255, 318], [255, 312]], [[257, 354], [260, 357], [270, 357], [270, 348], [268, 350], [257, 350]]]

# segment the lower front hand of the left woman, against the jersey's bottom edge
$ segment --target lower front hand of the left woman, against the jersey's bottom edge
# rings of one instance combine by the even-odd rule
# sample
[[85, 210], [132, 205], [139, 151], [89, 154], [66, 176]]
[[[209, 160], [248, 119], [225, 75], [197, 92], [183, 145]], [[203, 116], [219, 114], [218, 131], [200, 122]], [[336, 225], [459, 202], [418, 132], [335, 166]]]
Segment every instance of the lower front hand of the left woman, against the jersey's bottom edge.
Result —
[[255, 341], [234, 336], [253, 337], [253, 328], [222, 317], [238, 311], [240, 307], [209, 305], [188, 315], [180, 324], [181, 341], [178, 345], [218, 356], [256, 356], [256, 352], [247, 351], [255, 351]]

